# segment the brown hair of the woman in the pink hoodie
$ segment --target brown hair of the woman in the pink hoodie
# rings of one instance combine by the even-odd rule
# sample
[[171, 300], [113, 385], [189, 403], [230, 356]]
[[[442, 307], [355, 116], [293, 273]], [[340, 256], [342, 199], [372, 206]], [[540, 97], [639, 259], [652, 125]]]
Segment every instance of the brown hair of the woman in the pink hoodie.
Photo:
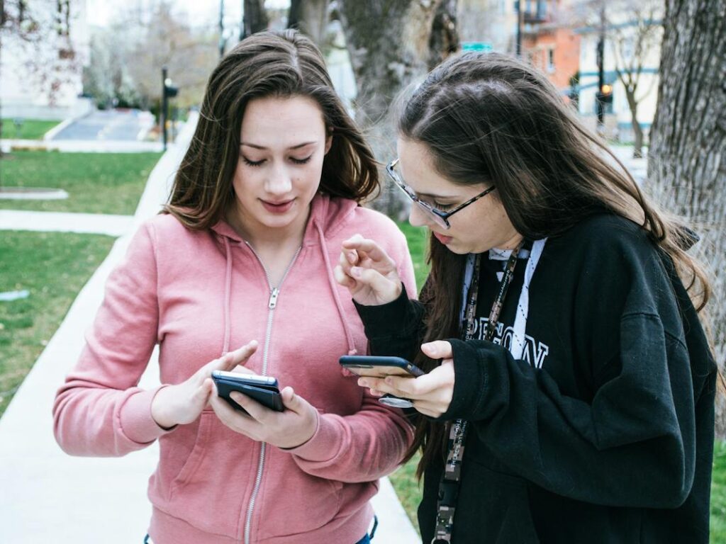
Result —
[[210, 228], [224, 217], [234, 199], [245, 107], [266, 96], [307, 96], [319, 104], [333, 136], [320, 191], [358, 202], [378, 191], [372, 151], [335, 93], [317, 46], [296, 30], [261, 32], [237, 44], [212, 72], [166, 213], [193, 229]]

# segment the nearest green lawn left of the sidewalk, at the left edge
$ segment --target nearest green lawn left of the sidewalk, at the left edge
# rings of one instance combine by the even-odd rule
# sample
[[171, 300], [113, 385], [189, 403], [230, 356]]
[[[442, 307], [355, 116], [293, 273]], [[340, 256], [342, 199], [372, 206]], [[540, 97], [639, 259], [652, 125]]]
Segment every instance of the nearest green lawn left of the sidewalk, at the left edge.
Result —
[[0, 292], [30, 292], [0, 301], [0, 416], [113, 242], [93, 234], [0, 234]]

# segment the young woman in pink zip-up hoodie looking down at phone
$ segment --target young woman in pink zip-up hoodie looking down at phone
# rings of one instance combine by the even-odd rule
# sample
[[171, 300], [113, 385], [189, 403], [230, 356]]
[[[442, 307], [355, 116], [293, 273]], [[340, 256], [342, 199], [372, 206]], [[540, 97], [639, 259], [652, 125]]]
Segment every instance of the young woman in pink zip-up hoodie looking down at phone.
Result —
[[[368, 541], [368, 500], [412, 429], [338, 365], [367, 341], [332, 263], [354, 234], [383, 240], [415, 292], [404, 236], [359, 205], [377, 189], [308, 38], [256, 34], [221, 60], [169, 203], [110, 276], [54, 404], [72, 455], [159, 440], [155, 544]], [[163, 385], [142, 390], [155, 345]], [[221, 400], [211, 371], [235, 368], [277, 377], [285, 410]]]

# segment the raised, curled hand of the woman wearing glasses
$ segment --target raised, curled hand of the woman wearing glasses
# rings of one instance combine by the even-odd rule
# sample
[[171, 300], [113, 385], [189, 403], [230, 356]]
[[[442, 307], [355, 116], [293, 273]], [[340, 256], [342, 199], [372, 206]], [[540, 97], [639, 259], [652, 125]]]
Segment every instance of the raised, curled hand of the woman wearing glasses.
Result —
[[360, 234], [343, 242], [335, 280], [348, 287], [353, 300], [365, 306], [393, 302], [402, 289], [393, 259], [373, 240]]

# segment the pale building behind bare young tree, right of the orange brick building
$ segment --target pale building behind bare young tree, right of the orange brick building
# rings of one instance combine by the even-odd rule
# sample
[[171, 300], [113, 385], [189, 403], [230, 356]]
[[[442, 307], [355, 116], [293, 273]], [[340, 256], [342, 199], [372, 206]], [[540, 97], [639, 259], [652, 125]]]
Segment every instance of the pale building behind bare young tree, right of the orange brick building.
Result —
[[[621, 4], [624, 4], [621, 2]], [[648, 4], [648, 0], [642, 4]], [[605, 136], [631, 142], [635, 139], [632, 128], [632, 112], [628, 104], [626, 88], [618, 76], [618, 70], [626, 78], [637, 79], [635, 99], [637, 120], [645, 141], [653, 123], [658, 101], [658, 67], [661, 58], [661, 18], [659, 14], [645, 14], [645, 10], [629, 7], [617, 10], [617, 2], [608, 4], [605, 25], [604, 82], [612, 88], [612, 104], [605, 104]], [[582, 36], [580, 46], [579, 112], [582, 118], [595, 128], [597, 114], [595, 94], [598, 86], [597, 42], [599, 25], [593, 24], [576, 29]], [[637, 71], [640, 70], [640, 75]]]

